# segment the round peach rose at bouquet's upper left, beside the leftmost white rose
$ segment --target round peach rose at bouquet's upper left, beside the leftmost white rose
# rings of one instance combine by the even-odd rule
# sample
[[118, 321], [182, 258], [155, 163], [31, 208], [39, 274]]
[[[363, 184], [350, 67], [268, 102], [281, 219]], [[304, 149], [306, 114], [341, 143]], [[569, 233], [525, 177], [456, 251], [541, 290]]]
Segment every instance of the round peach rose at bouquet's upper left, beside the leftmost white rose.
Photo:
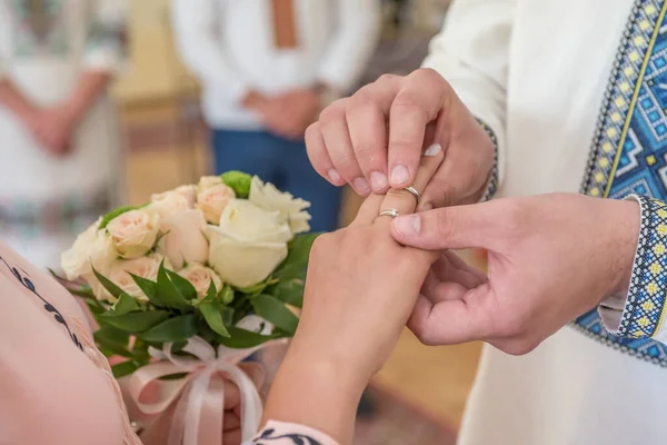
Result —
[[160, 216], [149, 208], [126, 211], [107, 225], [107, 231], [122, 258], [131, 259], [152, 249], [160, 230]]

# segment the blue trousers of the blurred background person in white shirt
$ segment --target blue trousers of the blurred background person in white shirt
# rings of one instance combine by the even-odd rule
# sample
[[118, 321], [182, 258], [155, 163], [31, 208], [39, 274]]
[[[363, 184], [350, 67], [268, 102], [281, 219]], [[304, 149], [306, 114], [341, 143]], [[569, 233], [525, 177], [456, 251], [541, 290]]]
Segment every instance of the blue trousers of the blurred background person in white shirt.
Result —
[[312, 231], [338, 227], [341, 189], [312, 168], [303, 140], [289, 140], [266, 131], [213, 130], [216, 172], [241, 170], [272, 182], [278, 189], [312, 204]]

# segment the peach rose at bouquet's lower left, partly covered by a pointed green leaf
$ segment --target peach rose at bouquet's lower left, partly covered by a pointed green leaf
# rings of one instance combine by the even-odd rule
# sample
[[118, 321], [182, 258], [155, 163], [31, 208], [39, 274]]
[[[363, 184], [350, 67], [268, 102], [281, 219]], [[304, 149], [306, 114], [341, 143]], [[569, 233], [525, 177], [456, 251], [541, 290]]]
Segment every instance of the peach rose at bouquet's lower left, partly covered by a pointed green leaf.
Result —
[[[113, 263], [103, 275], [129, 296], [141, 301], [147, 301], [148, 297], [143, 294], [137, 283], [135, 283], [135, 279], [130, 274], [156, 281], [162, 260], [163, 257], [161, 255], [150, 255], [148, 257], [135, 259], [120, 259]], [[166, 264], [165, 267], [168, 267], [168, 264]]]

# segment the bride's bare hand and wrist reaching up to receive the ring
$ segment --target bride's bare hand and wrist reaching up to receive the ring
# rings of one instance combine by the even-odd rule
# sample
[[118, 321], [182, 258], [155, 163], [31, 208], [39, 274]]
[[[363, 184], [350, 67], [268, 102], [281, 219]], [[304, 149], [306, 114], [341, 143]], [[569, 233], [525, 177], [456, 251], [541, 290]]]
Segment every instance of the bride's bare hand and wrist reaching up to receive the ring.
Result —
[[[441, 150], [429, 155], [415, 181], [419, 191], [444, 158]], [[407, 190], [371, 196], [349, 227], [318, 238], [299, 328], [269, 396], [268, 417], [315, 426], [347, 443], [361, 392], [396, 346], [437, 259], [396, 243], [391, 217], [378, 216], [388, 209], [411, 214], [416, 205]]]

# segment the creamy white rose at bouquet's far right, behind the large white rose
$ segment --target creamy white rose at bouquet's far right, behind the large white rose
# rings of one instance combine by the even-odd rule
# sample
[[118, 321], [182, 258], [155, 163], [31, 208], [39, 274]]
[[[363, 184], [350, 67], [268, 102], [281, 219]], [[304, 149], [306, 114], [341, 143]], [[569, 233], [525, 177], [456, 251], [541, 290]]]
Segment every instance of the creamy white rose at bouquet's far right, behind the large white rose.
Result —
[[270, 182], [262, 182], [257, 176], [250, 184], [248, 200], [266, 210], [277, 210], [288, 221], [292, 234], [310, 230], [310, 214], [306, 211], [310, 202], [295, 198], [291, 194], [280, 191]]

